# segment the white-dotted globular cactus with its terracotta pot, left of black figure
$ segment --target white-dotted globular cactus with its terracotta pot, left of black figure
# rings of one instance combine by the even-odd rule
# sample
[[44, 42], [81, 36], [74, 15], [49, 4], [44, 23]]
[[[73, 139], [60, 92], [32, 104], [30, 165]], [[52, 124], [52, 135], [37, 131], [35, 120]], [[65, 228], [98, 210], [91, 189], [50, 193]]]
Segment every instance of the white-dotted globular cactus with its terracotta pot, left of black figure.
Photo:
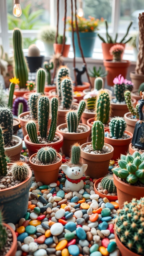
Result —
[[129, 143], [132, 140], [132, 133], [125, 129], [126, 121], [121, 117], [112, 118], [109, 128], [105, 129], [105, 143], [114, 147], [114, 160], [119, 159], [120, 154], [126, 154], [128, 152]]

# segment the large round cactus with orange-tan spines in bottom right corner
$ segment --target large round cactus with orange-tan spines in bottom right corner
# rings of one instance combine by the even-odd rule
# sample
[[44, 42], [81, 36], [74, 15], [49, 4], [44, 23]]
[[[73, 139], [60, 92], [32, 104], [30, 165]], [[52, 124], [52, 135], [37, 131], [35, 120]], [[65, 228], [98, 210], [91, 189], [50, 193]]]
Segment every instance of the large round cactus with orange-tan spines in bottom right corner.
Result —
[[131, 202], [126, 201], [124, 207], [117, 212], [115, 223], [119, 240], [133, 254], [144, 255], [144, 197], [140, 200], [133, 198]]

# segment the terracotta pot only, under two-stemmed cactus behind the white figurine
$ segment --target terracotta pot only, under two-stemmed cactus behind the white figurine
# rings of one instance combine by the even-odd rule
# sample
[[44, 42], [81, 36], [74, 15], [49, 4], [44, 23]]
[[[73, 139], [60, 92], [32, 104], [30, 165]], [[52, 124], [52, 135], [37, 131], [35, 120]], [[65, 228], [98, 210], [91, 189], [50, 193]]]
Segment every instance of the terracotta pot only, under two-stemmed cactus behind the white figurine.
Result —
[[[79, 123], [80, 125], [84, 125]], [[65, 154], [66, 156], [70, 156], [70, 148], [71, 145], [73, 145], [75, 142], [78, 142], [80, 145], [87, 142], [87, 137], [90, 135], [90, 128], [87, 125], [84, 125], [87, 128], [86, 132], [81, 133], [65, 133], [60, 131], [62, 128], [66, 128], [67, 124], [60, 124], [57, 126], [57, 132], [62, 134], [64, 137], [64, 143], [61, 147], [62, 154]]]

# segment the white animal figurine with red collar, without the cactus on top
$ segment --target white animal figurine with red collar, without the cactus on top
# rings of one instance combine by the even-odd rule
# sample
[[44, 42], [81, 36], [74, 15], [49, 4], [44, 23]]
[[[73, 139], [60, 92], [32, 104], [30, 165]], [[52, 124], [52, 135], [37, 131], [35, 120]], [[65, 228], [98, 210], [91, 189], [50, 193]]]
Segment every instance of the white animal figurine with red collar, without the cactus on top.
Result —
[[87, 164], [75, 167], [69, 167], [68, 165], [61, 165], [61, 169], [67, 175], [67, 179], [65, 182], [65, 187], [70, 188], [71, 192], [77, 191], [79, 192], [80, 189], [84, 188], [84, 179], [83, 177], [84, 172], [87, 169]]

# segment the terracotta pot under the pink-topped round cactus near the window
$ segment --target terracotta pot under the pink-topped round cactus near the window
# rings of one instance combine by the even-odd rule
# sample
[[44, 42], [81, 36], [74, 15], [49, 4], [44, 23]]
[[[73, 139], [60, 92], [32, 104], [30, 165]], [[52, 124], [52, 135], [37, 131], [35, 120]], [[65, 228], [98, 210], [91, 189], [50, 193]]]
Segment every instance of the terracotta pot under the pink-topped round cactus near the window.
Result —
[[125, 61], [126, 62], [112, 62], [112, 60], [103, 60], [106, 71], [108, 71], [107, 84], [109, 86], [114, 86], [113, 80], [116, 76], [119, 76], [119, 74], [126, 78], [131, 61]]

